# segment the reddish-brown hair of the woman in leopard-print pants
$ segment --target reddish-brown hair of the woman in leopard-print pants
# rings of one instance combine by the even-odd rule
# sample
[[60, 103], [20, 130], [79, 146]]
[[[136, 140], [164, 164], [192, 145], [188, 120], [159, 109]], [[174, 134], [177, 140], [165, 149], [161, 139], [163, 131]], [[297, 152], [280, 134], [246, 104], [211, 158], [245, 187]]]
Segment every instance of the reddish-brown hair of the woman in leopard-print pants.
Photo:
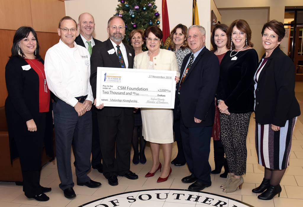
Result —
[[[231, 45], [231, 33], [234, 27], [238, 28], [241, 32], [246, 34], [247, 46], [254, 47], [254, 44], [251, 42], [251, 29], [244, 19], [237, 19], [231, 23], [227, 30], [227, 45]], [[235, 49], [235, 44], [232, 44], [232, 48]]]

